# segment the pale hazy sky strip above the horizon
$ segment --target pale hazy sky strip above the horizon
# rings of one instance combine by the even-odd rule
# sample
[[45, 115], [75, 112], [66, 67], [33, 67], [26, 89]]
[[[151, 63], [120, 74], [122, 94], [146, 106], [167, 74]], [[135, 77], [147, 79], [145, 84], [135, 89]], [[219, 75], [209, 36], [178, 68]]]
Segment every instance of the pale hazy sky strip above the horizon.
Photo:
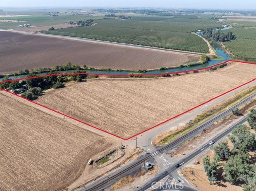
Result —
[[256, 10], [256, 0], [0, 0], [0, 7], [166, 7]]

